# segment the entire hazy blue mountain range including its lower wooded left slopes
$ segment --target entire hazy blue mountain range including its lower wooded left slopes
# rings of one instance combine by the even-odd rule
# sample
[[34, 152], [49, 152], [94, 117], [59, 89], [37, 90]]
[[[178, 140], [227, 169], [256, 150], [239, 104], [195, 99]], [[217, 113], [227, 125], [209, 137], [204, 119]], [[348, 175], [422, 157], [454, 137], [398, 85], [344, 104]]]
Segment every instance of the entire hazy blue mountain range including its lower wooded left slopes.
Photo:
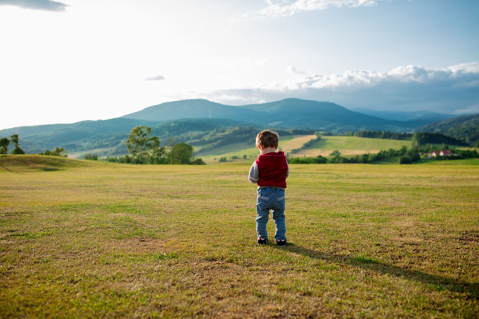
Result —
[[[389, 119], [376, 115], [383, 115]], [[88, 152], [102, 149], [103, 153], [126, 152], [125, 139], [137, 125], [148, 125], [160, 136], [208, 133], [221, 127], [254, 126], [276, 129], [312, 129], [318, 131], [391, 131], [416, 132], [433, 121], [447, 119], [449, 115], [431, 112], [389, 112], [373, 115], [348, 110], [330, 102], [302, 99], [231, 106], [205, 99], [166, 102], [126, 114], [120, 118], [99, 121], [80, 121], [71, 124], [24, 126], [0, 131], [1, 137], [19, 134], [21, 147], [38, 153], [55, 146], [69, 152]], [[188, 119], [188, 120], [186, 120]], [[404, 121], [399, 121], [404, 120]], [[440, 125], [440, 124], [430, 124]], [[475, 125], [475, 124], [471, 124]], [[463, 140], [466, 140], [462, 137]]]

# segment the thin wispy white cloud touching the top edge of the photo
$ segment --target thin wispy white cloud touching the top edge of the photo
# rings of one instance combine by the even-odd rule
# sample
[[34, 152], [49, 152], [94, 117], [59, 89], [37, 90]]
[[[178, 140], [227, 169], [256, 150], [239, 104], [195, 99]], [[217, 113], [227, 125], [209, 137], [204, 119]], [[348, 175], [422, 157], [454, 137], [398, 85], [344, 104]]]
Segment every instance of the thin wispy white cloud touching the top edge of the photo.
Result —
[[258, 11], [245, 13], [241, 18], [244, 20], [265, 17], [287, 17], [302, 11], [318, 11], [330, 7], [370, 7], [376, 5], [379, 1], [382, 0], [296, 0], [291, 4], [281, 5], [274, 4], [271, 0], [266, 0], [268, 3], [267, 7]]

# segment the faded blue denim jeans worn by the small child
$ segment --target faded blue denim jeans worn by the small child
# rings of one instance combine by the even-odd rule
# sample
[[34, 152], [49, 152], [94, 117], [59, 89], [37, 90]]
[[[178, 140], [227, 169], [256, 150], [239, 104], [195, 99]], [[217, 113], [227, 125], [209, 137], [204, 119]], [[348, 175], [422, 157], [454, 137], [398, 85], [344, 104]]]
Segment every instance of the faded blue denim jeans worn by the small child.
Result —
[[258, 188], [256, 200], [256, 231], [258, 237], [268, 238], [266, 223], [269, 219], [269, 211], [273, 210], [273, 220], [276, 225], [274, 239], [286, 240], [285, 232], [285, 191], [276, 187]]

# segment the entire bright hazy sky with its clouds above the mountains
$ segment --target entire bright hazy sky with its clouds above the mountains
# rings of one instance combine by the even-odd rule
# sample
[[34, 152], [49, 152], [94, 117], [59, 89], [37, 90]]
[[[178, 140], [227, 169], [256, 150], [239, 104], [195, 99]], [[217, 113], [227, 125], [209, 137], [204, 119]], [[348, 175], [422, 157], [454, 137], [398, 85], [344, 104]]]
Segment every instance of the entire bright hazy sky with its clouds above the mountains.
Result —
[[0, 129], [178, 99], [479, 112], [477, 0], [0, 0]]

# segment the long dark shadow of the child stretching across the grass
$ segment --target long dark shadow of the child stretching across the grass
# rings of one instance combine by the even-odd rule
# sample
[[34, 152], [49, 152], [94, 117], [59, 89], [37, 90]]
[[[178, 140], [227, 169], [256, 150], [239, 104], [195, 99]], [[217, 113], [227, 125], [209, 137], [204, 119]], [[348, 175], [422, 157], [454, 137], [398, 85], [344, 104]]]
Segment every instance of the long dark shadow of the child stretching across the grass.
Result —
[[401, 268], [391, 264], [383, 264], [374, 259], [365, 257], [350, 257], [346, 255], [336, 255], [331, 253], [322, 253], [312, 249], [304, 248], [294, 243], [288, 242], [284, 247], [273, 246], [274, 248], [287, 250], [292, 253], [300, 253], [311, 258], [322, 259], [336, 264], [347, 264], [365, 270], [372, 270], [377, 273], [385, 273], [396, 277], [404, 277], [408, 280], [420, 281], [430, 284], [434, 289], [448, 289], [456, 292], [467, 293], [470, 297], [479, 299], [479, 283], [460, 282], [455, 279], [431, 275], [418, 270]]

